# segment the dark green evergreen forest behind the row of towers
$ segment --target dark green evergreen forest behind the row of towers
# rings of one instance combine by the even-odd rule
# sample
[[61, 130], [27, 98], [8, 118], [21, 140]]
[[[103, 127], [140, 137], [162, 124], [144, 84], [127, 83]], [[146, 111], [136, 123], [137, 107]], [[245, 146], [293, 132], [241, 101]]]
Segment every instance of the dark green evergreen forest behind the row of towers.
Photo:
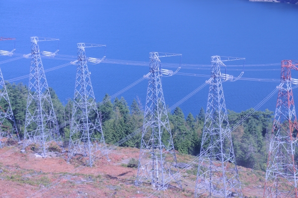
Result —
[[[6, 83], [9, 100], [15, 117], [16, 125], [23, 138], [28, 88], [22, 83]], [[72, 100], [65, 105], [58, 99], [55, 91], [49, 88], [58, 123], [69, 121], [72, 117]], [[109, 99], [106, 94], [103, 100]], [[98, 101], [97, 101], [98, 102]], [[0, 101], [0, 106], [5, 105]], [[145, 105], [145, 104], [144, 104]], [[206, 107], [204, 107], [206, 108]], [[185, 116], [180, 107], [173, 113], [168, 113], [174, 147], [180, 154], [198, 155], [200, 153], [205, 111], [202, 107], [197, 115], [188, 113]], [[114, 144], [143, 125], [144, 106], [137, 97], [132, 104], [121, 97], [98, 107], [102, 129], [107, 144]], [[230, 128], [236, 124], [248, 111], [240, 113], [228, 111]], [[186, 118], [185, 118], [186, 117]], [[254, 170], [266, 171], [268, 158], [269, 133], [273, 121], [273, 112], [269, 110], [255, 111], [242, 125], [232, 131], [233, 148], [237, 165]], [[9, 124], [9, 123], [8, 123]], [[11, 124], [11, 123], [10, 123]], [[65, 147], [68, 147], [70, 125], [60, 129]], [[96, 134], [95, 134], [96, 135]], [[121, 146], [140, 147], [141, 133], [124, 142]]]

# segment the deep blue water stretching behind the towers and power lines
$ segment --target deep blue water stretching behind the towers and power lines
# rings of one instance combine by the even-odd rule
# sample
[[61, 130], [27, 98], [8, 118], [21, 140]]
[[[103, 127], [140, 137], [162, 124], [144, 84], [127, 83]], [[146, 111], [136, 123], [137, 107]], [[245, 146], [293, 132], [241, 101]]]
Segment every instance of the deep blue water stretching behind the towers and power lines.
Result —
[[[108, 59], [149, 61], [149, 52], [182, 54], [182, 63], [210, 64], [213, 55], [245, 57], [245, 64], [280, 63], [298, 59], [298, 5], [249, 2], [248, 0], [48, 0], [0, 1], [0, 36], [16, 38], [16, 53], [30, 53], [30, 36], [59, 38], [60, 54], [76, 55], [76, 43], [106, 44]], [[13, 42], [1, 42], [0, 48], [12, 49]], [[55, 51], [58, 42], [40, 43], [40, 49]], [[88, 49], [87, 56], [103, 56], [103, 49]], [[0, 57], [0, 61], [11, 57]], [[162, 58], [179, 63], [180, 59]], [[67, 63], [43, 59], [44, 68]], [[29, 74], [30, 59], [0, 65], [6, 80]], [[247, 67], [246, 69], [280, 69]], [[147, 74], [149, 67], [114, 64], [89, 65], [97, 101]], [[209, 70], [181, 70], [210, 74]], [[228, 74], [238, 75], [240, 71]], [[48, 84], [66, 102], [73, 98], [75, 66], [46, 73]], [[280, 71], [245, 71], [246, 78], [280, 78]], [[298, 71], [293, 72], [298, 78]], [[171, 106], [207, 78], [172, 76], [163, 79], [167, 105]], [[21, 80], [24, 84], [28, 79]], [[16, 82], [18, 83], [18, 82]], [[145, 105], [147, 81], [122, 94], [131, 104], [138, 96]], [[241, 111], [255, 106], [278, 83], [226, 82], [226, 107]], [[180, 107], [185, 114], [206, 109], [208, 87]], [[294, 90], [298, 97], [298, 90]], [[277, 95], [260, 109], [275, 109]], [[297, 98], [298, 101], [298, 98]]]

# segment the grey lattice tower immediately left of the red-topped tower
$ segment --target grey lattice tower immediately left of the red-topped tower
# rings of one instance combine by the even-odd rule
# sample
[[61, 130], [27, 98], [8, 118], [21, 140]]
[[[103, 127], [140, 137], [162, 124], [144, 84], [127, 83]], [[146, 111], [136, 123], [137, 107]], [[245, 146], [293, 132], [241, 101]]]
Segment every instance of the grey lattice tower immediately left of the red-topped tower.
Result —
[[199, 156], [195, 197], [242, 197], [224, 101], [221, 57], [211, 57], [211, 79]]

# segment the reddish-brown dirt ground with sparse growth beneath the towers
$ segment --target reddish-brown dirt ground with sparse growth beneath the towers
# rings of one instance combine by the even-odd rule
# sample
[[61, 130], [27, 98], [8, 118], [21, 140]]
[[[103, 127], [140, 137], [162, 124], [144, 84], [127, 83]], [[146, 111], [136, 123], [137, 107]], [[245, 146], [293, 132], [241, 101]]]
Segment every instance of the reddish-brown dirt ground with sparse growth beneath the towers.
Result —
[[[0, 149], [0, 154], [13, 146]], [[19, 150], [0, 158], [0, 198], [145, 198], [154, 189], [148, 184], [134, 185], [136, 168], [128, 168], [131, 158], [138, 159], [139, 149], [118, 147], [97, 160], [92, 168], [80, 166], [80, 159], [67, 163], [66, 154], [49, 153], [42, 158], [28, 147], [26, 153]], [[189, 162], [193, 156], [177, 154], [178, 162]], [[242, 193], [245, 197], [262, 197], [264, 172], [239, 167]], [[67, 173], [67, 177], [63, 177]], [[60, 179], [60, 180], [58, 180]], [[55, 181], [58, 183], [53, 184]], [[192, 198], [196, 180], [196, 168], [181, 172], [183, 190], [171, 183], [166, 191], [155, 198]], [[48, 187], [49, 185], [49, 187]], [[43, 194], [37, 194], [41, 191]]]

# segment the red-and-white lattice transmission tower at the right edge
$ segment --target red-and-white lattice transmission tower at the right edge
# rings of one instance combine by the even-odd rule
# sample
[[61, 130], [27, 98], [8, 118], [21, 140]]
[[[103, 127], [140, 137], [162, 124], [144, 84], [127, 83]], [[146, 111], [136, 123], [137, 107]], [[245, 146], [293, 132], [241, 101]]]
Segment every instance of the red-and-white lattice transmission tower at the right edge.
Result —
[[297, 198], [297, 135], [291, 70], [298, 70], [298, 62], [282, 61], [281, 84], [274, 115], [269, 147], [264, 198]]

